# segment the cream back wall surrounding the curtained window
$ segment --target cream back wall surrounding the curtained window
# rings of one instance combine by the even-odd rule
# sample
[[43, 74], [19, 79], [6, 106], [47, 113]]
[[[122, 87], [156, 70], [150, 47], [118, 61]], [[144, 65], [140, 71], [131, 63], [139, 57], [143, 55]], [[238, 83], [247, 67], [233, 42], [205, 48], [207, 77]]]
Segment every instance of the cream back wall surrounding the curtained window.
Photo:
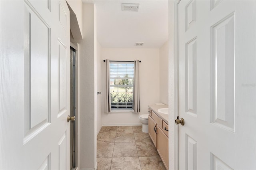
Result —
[[140, 63], [140, 113], [148, 113], [148, 105], [159, 102], [159, 49], [102, 48], [102, 125], [141, 125], [138, 113], [105, 113], [105, 63], [104, 59], [133, 61]]

